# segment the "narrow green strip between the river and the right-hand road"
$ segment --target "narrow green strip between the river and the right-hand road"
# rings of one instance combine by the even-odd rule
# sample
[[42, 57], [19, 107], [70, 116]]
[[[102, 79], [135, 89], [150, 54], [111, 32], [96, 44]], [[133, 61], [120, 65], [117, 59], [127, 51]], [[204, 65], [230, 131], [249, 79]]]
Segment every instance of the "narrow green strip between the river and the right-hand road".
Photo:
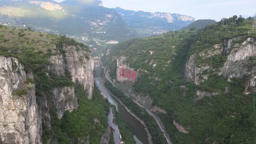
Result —
[[160, 128], [155, 122], [155, 119], [151, 117], [145, 109], [139, 107], [135, 102], [132, 101], [132, 99], [128, 98], [125, 94], [123, 94], [120, 90], [113, 87], [113, 85], [110, 83], [110, 81], [105, 82], [105, 87], [110, 90], [113, 95], [115, 95], [118, 99], [120, 99], [123, 104], [125, 104], [137, 117], [142, 119], [150, 134], [152, 135], [152, 141], [154, 144], [159, 144], [159, 142], [162, 142], [162, 144], [166, 144], [167, 142], [163, 141], [163, 133], [161, 132]]

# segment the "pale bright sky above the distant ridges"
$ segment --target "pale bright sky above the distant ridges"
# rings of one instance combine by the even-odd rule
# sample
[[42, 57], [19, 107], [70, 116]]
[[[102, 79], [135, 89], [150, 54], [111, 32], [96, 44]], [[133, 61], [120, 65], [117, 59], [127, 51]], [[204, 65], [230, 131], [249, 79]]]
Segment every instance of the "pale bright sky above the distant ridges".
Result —
[[[63, 1], [63, 0], [55, 0]], [[195, 19], [229, 18], [233, 15], [252, 16], [256, 0], [102, 0], [107, 8], [120, 7], [148, 12], [169, 12]]]

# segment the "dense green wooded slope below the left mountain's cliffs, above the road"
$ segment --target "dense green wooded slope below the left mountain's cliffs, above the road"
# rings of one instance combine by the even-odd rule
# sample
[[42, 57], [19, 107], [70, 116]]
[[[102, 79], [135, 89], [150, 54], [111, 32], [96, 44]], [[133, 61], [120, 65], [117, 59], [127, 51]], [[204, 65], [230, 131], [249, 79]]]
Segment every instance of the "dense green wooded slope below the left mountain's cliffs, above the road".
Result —
[[89, 136], [90, 144], [99, 144], [101, 136], [109, 126], [108, 103], [97, 88], [93, 91], [92, 100], [85, 95], [81, 85], [75, 86], [75, 95], [79, 107], [73, 112], [66, 111], [62, 119], [58, 119], [55, 113], [51, 115], [52, 129], [45, 131], [44, 143], [47, 142], [48, 137], [52, 137], [54, 138], [52, 141], [58, 144], [77, 144], [86, 142]]

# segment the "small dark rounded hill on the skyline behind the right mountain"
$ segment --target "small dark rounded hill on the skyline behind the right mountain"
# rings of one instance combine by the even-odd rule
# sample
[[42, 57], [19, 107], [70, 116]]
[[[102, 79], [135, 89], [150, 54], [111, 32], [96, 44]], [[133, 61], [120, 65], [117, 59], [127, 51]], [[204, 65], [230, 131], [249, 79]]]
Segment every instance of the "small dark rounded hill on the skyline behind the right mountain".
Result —
[[191, 28], [193, 29], [201, 29], [204, 28], [208, 25], [212, 25], [216, 23], [215, 20], [213, 19], [199, 19], [188, 25], [187, 27], [183, 27], [182, 30], [190, 30]]

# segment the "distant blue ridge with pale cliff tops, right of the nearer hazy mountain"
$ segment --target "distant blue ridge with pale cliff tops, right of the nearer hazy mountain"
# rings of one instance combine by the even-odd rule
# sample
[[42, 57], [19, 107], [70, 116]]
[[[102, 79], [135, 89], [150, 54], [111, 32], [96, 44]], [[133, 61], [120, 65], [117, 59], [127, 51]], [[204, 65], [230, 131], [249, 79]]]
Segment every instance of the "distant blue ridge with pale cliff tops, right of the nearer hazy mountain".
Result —
[[124, 18], [129, 27], [142, 34], [159, 34], [170, 30], [179, 30], [195, 21], [194, 18], [165, 12], [133, 11], [114, 8]]

